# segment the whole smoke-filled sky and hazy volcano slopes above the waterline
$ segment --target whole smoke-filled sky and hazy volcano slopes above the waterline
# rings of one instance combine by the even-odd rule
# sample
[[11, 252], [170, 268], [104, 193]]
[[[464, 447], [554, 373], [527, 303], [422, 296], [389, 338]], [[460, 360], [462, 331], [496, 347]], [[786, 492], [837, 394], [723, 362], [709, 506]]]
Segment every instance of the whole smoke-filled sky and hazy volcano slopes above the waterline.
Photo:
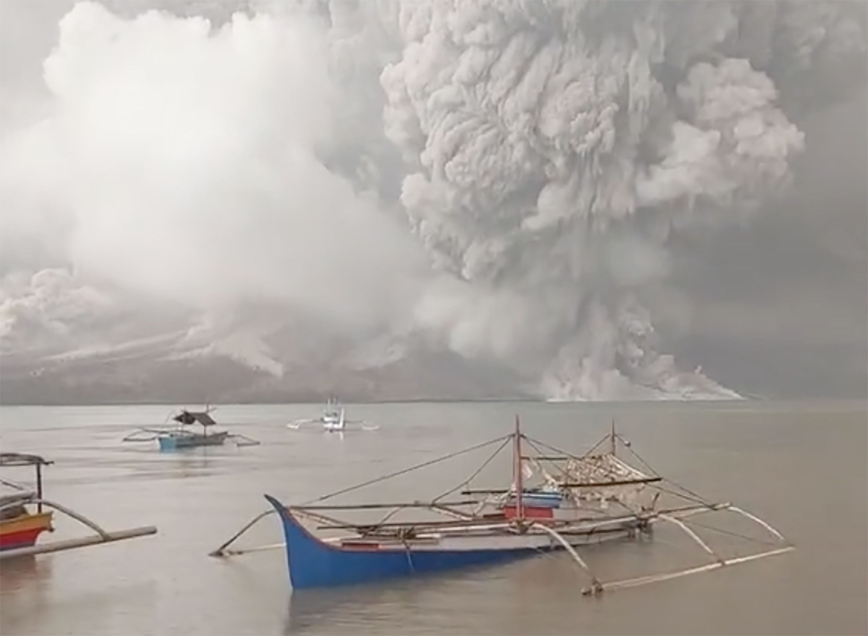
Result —
[[865, 397], [866, 6], [4, 0], [0, 397]]

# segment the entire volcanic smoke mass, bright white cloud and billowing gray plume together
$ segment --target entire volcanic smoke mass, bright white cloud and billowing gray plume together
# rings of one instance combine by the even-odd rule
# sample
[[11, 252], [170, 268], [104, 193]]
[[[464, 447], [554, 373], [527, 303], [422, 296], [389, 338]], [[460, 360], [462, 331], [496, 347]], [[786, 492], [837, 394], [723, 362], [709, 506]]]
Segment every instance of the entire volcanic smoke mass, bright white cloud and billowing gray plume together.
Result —
[[786, 189], [865, 58], [858, 3], [126, 7], [69, 12], [3, 138], [4, 262], [406, 319], [567, 399], [732, 396], [661, 354], [669, 242]]

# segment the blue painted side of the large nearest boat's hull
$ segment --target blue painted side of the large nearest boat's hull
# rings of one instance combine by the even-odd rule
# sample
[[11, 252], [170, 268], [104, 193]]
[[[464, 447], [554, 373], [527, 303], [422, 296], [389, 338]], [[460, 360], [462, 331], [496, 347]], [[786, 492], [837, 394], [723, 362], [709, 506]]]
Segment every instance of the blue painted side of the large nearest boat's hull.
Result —
[[289, 579], [295, 589], [344, 586], [490, 565], [540, 552], [536, 547], [424, 551], [337, 547], [314, 537], [278, 500], [267, 494], [266, 500], [277, 510], [283, 523]]

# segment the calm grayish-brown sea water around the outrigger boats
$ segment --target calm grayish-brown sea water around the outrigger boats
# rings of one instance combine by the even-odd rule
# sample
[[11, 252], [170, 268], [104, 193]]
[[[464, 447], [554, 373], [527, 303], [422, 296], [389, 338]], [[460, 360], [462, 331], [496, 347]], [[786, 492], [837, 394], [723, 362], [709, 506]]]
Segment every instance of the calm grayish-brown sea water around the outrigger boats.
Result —
[[[3, 563], [3, 634], [280, 633], [868, 633], [868, 431], [864, 403], [349, 405], [373, 432], [284, 425], [313, 406], [226, 406], [214, 414], [260, 446], [161, 454], [125, 444], [170, 407], [2, 407], [4, 451], [55, 460], [46, 496], [107, 529], [155, 536]], [[292, 593], [282, 550], [207, 556], [254, 514], [262, 494], [308, 500], [440, 454], [525, 433], [571, 451], [619, 430], [661, 474], [769, 521], [798, 549], [711, 573], [582, 597], [566, 555], [418, 580]], [[417, 499], [448, 489], [485, 452], [395, 480], [371, 496]], [[28, 471], [4, 471], [26, 480]], [[503, 479], [508, 479], [503, 475]], [[500, 486], [503, 482], [491, 483]], [[365, 491], [355, 494], [365, 500]], [[351, 495], [347, 495], [352, 500]], [[710, 530], [700, 532], [716, 540]], [[46, 540], [87, 532], [61, 519]], [[281, 540], [264, 520], [244, 540]], [[753, 547], [754, 550], [758, 549]], [[761, 549], [761, 547], [759, 547]], [[697, 564], [686, 536], [586, 548], [602, 580]]]

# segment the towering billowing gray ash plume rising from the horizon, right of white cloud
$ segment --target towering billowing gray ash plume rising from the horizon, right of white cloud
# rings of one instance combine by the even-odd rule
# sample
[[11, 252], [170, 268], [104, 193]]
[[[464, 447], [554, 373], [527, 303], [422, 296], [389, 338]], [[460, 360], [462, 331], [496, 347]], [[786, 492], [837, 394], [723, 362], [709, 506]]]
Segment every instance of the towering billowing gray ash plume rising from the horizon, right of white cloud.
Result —
[[[665, 281], [670, 232], [731, 222], [786, 186], [805, 142], [787, 97], [816, 103], [799, 94], [814, 76], [830, 98], [847, 88], [865, 6], [388, 9], [404, 52], [381, 76], [385, 130], [409, 166], [411, 226], [473, 295], [521, 299], [490, 305], [480, 337], [510, 324], [507, 357], [547, 362], [553, 396], [702, 392], [656, 353], [640, 292]], [[478, 323], [479, 304], [467, 309], [450, 329]]]

